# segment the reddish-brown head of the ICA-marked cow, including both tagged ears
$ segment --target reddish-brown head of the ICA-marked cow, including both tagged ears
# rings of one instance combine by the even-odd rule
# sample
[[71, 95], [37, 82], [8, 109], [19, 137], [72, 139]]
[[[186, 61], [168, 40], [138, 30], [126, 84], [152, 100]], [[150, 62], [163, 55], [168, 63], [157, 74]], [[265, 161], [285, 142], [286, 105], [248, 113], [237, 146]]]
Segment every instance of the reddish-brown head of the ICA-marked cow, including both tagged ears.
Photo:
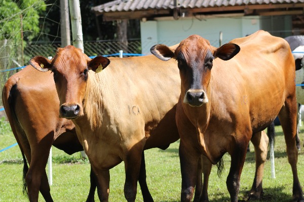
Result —
[[58, 48], [52, 60], [36, 56], [29, 63], [39, 71], [53, 72], [60, 100], [59, 116], [75, 119], [84, 115], [82, 103], [88, 71], [105, 68], [110, 61], [102, 56], [90, 59], [82, 53], [81, 49], [68, 45], [64, 48]]

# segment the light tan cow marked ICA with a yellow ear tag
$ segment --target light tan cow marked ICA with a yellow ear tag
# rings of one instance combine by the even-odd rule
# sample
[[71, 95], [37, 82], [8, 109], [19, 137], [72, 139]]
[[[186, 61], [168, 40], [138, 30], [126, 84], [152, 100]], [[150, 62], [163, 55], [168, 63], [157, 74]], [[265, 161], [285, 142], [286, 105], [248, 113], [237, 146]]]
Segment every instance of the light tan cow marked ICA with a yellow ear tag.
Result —
[[[54, 72], [60, 116], [76, 126], [98, 178], [100, 201], [108, 200], [109, 169], [122, 161], [125, 197], [134, 201], [142, 150], [167, 148], [179, 139], [175, 112], [180, 78], [174, 60], [165, 63], [154, 56], [110, 60], [111, 64], [102, 56], [90, 59], [80, 49], [66, 46], [58, 48], [52, 61], [37, 56], [30, 64]], [[94, 73], [99, 66], [108, 67]]]

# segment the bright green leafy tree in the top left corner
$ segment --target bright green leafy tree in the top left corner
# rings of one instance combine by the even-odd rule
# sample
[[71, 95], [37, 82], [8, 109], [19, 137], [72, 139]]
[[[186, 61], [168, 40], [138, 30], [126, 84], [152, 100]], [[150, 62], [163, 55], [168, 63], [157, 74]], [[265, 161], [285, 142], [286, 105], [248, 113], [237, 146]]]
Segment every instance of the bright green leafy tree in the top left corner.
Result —
[[43, 0], [0, 0], [0, 5], [0, 68], [7, 69], [23, 65], [25, 41], [39, 34], [39, 14], [46, 7]]

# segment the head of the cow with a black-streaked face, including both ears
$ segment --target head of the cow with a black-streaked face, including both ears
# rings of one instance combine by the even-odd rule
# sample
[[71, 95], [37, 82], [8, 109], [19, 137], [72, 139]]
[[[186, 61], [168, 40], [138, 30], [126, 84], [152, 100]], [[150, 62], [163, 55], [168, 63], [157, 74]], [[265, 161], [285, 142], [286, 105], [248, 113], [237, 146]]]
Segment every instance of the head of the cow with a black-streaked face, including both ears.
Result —
[[191, 35], [181, 41], [174, 50], [158, 44], [150, 49], [151, 53], [163, 61], [174, 58], [178, 62], [181, 78], [181, 95], [183, 103], [192, 107], [200, 107], [208, 103], [207, 87], [211, 77], [213, 60], [230, 60], [240, 51], [234, 43], [226, 43], [219, 48], [198, 35]]

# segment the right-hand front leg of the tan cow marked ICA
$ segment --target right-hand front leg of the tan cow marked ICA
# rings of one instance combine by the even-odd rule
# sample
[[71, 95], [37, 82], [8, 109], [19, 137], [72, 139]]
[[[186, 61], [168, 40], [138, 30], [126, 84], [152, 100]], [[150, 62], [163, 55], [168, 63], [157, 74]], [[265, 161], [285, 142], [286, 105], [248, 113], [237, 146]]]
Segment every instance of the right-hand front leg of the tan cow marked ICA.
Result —
[[137, 181], [139, 179], [141, 156], [143, 153], [143, 141], [142, 144], [138, 143], [133, 145], [129, 151], [127, 151], [125, 162], [126, 181], [124, 186], [125, 198], [128, 202], [135, 201], [137, 193]]

